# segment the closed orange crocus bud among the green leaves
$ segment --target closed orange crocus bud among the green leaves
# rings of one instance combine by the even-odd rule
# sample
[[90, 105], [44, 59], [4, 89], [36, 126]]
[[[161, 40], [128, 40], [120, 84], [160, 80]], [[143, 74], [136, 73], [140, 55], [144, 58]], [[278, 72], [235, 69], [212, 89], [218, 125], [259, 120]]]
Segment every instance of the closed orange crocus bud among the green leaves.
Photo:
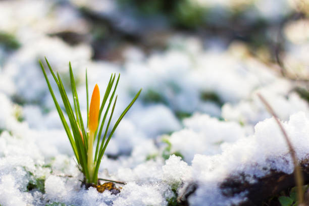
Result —
[[100, 92], [97, 84], [95, 84], [90, 100], [90, 109], [89, 109], [88, 129], [91, 132], [95, 132], [98, 126], [99, 110], [100, 110]]

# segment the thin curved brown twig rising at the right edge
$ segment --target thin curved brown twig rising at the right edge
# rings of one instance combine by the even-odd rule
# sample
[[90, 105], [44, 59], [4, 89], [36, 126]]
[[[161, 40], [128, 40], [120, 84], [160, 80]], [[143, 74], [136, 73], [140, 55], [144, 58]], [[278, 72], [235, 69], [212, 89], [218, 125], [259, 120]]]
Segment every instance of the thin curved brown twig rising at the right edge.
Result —
[[303, 177], [302, 177], [302, 174], [301, 174], [300, 167], [298, 165], [298, 161], [296, 159], [295, 149], [294, 149], [285, 129], [283, 128], [283, 125], [279, 121], [278, 116], [275, 114], [275, 112], [272, 109], [272, 107], [270, 106], [270, 104], [267, 102], [267, 100], [260, 93], [258, 93], [258, 96], [262, 100], [263, 104], [266, 106], [269, 113], [271, 113], [273, 115], [273, 117], [275, 118], [275, 120], [276, 120], [278, 126], [280, 127], [280, 130], [281, 130], [281, 132], [282, 132], [282, 134], [285, 138], [285, 141], [286, 141], [286, 143], [289, 147], [289, 150], [291, 152], [291, 157], [292, 157], [292, 160], [293, 160], [293, 164], [294, 164], [294, 177], [295, 177], [295, 182], [296, 182], [296, 186], [297, 186], [298, 205], [303, 204], [303, 191], [302, 191]]

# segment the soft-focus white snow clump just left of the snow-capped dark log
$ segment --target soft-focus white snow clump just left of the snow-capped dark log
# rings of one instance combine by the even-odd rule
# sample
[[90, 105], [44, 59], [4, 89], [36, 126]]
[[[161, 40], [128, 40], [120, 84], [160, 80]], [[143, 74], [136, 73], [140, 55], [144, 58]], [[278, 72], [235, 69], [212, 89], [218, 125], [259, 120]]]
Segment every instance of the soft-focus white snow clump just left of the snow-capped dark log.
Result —
[[245, 130], [235, 122], [219, 121], [208, 115], [194, 114], [183, 120], [185, 129], [174, 132], [168, 140], [172, 152], [180, 152], [186, 162], [194, 155], [215, 155], [223, 142], [235, 142], [245, 137]]

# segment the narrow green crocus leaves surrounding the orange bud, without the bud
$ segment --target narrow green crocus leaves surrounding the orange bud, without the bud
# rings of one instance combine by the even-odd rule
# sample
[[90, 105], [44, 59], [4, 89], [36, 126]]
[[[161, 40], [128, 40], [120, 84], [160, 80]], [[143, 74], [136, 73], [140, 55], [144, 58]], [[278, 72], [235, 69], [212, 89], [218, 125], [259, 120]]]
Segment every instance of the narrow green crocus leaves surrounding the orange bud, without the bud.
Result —
[[[104, 114], [104, 117], [102, 118], [102, 121], [101, 121], [99, 127], [96, 129], [96, 131], [94, 133], [94, 139], [96, 139], [95, 156], [94, 156], [94, 160], [93, 160], [94, 169], [93, 169], [93, 171], [89, 171], [89, 167], [88, 167], [89, 161], [88, 161], [87, 153], [88, 153], [88, 151], [91, 151], [91, 155], [92, 155], [92, 149], [93, 148], [88, 148], [89, 131], [86, 130], [86, 128], [84, 126], [84, 122], [83, 122], [82, 115], [81, 115], [81, 112], [80, 112], [79, 100], [78, 100], [76, 84], [75, 84], [75, 79], [74, 79], [71, 63], [69, 63], [69, 68], [70, 68], [71, 89], [72, 89], [73, 100], [74, 100], [74, 109], [72, 108], [72, 106], [70, 104], [67, 92], [64, 88], [64, 84], [62, 82], [62, 79], [61, 79], [59, 73], [57, 72], [57, 76], [56, 76], [56, 74], [52, 70], [52, 67], [50, 67], [46, 58], [45, 58], [45, 61], [47, 63], [47, 66], [48, 66], [50, 73], [53, 75], [53, 78], [54, 78], [55, 82], [57, 83], [57, 86], [58, 86], [58, 89], [60, 91], [64, 107], [65, 107], [64, 109], [65, 109], [65, 111], [68, 115], [68, 118], [69, 118], [69, 123], [70, 123], [71, 129], [72, 129], [72, 132], [71, 132], [71, 129], [70, 129], [65, 117], [64, 117], [62, 109], [61, 109], [61, 107], [60, 107], [60, 105], [59, 105], [59, 103], [56, 99], [56, 96], [54, 94], [52, 86], [49, 83], [49, 80], [47, 78], [46, 72], [44, 70], [44, 67], [43, 67], [41, 61], [39, 61], [39, 63], [40, 63], [42, 72], [44, 74], [49, 92], [53, 97], [56, 109], [58, 111], [58, 114], [60, 116], [60, 119], [62, 121], [64, 129], [65, 129], [67, 136], [69, 138], [69, 141], [71, 143], [71, 146], [72, 146], [72, 149], [74, 151], [74, 155], [76, 157], [77, 163], [80, 166], [80, 170], [82, 171], [82, 173], [85, 176], [86, 182], [96, 184], [97, 183], [97, 173], [98, 173], [99, 165], [100, 165], [101, 159], [104, 155], [104, 152], [106, 150], [106, 147], [107, 147], [112, 135], [114, 134], [117, 126], [119, 125], [120, 121], [125, 116], [125, 114], [128, 112], [128, 110], [131, 108], [131, 106], [133, 105], [133, 103], [135, 102], [137, 97], [139, 96], [141, 90], [139, 90], [139, 92], [135, 95], [135, 97], [130, 102], [130, 104], [127, 106], [127, 108], [122, 112], [122, 114], [120, 115], [120, 117], [118, 118], [114, 127], [112, 128], [111, 132], [108, 135], [108, 130], [109, 130], [110, 123], [111, 123], [111, 120], [112, 120], [112, 117], [113, 117], [113, 114], [114, 114], [114, 110], [115, 110], [115, 106], [116, 106], [116, 101], [117, 101], [117, 96], [116, 96], [116, 98], [114, 100], [113, 107], [112, 107], [112, 111], [110, 113], [110, 117], [108, 119], [108, 123], [105, 127], [104, 136], [103, 136], [103, 138], [101, 138], [102, 131], [103, 131], [107, 116], [109, 114], [109, 111], [110, 111], [110, 108], [111, 108], [111, 105], [112, 105], [112, 102], [113, 102], [113, 99], [114, 99], [114, 96], [115, 96], [116, 88], [117, 88], [117, 85], [118, 85], [118, 82], [119, 82], [119, 78], [120, 78], [120, 75], [119, 75], [117, 80], [116, 80], [116, 84], [114, 86], [114, 89], [112, 91], [116, 75], [115, 74], [111, 75], [110, 81], [109, 81], [109, 83], [107, 85], [107, 89], [105, 91], [104, 98], [102, 99], [102, 103], [101, 103], [101, 106], [99, 108], [98, 121], [101, 119], [102, 114]], [[86, 94], [87, 94], [87, 125], [88, 125], [88, 123], [89, 123], [89, 98], [88, 98], [87, 71], [86, 71]], [[108, 101], [109, 96], [110, 96], [110, 99]], [[98, 101], [99, 101], [99, 99], [98, 99]], [[107, 102], [108, 102], [108, 106], [105, 110], [105, 113], [102, 113]], [[93, 172], [93, 173], [91, 173], [91, 172]]]

